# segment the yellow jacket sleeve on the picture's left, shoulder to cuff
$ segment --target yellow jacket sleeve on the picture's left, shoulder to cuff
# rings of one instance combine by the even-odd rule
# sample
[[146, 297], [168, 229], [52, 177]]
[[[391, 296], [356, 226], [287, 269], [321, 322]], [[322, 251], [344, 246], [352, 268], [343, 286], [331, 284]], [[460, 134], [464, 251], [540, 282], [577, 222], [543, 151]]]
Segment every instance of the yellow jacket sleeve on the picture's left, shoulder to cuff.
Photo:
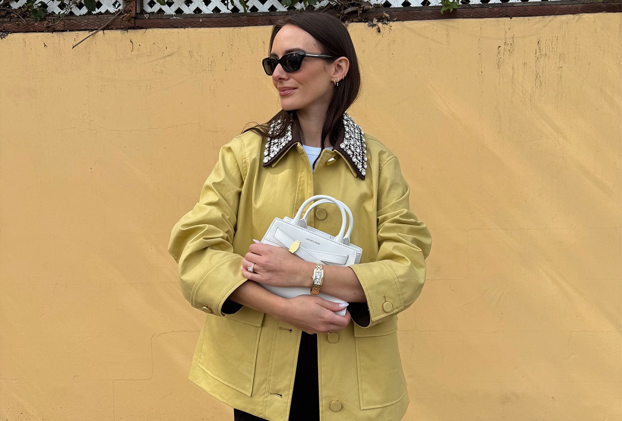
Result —
[[169, 252], [179, 264], [183, 297], [218, 316], [242, 307], [227, 297], [246, 281], [240, 271], [242, 256], [232, 245], [244, 167], [243, 144], [236, 137], [220, 149], [198, 203], [170, 236]]

